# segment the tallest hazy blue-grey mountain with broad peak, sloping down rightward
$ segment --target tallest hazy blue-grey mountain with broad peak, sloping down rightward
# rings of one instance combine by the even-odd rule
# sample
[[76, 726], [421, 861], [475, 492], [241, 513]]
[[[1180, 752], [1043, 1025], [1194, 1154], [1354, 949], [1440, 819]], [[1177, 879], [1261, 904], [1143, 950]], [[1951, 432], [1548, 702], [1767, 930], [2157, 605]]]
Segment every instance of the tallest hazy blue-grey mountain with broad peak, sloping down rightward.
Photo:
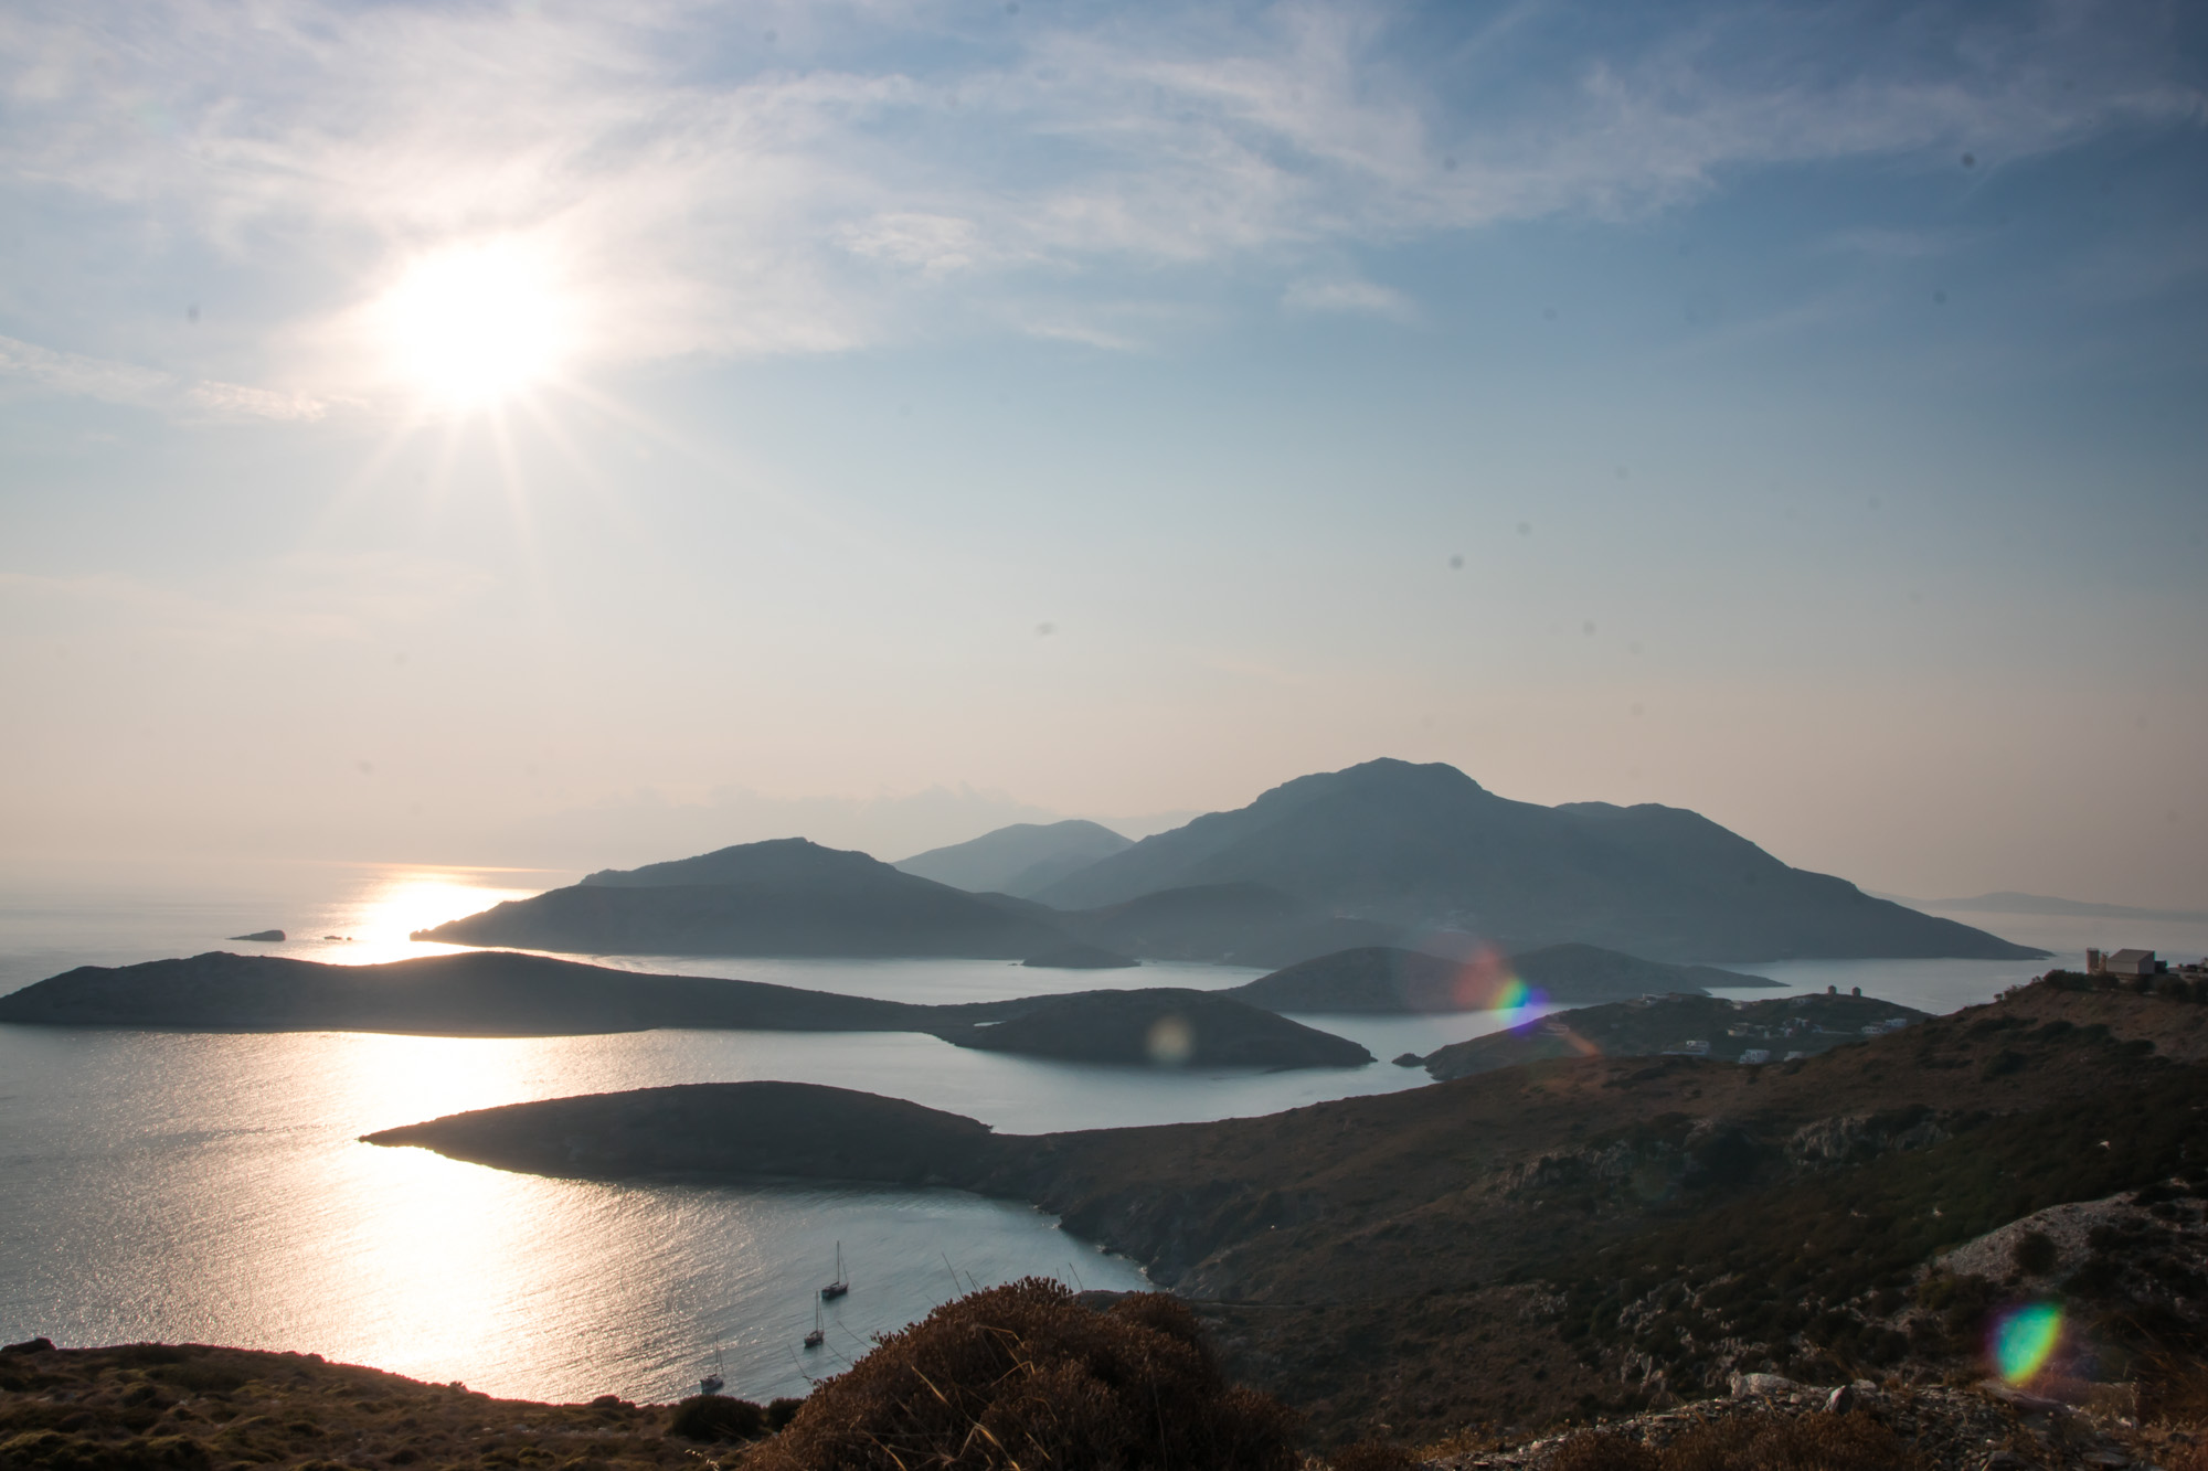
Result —
[[[1682, 808], [1510, 802], [1455, 766], [1398, 760], [1298, 777], [1036, 897], [1091, 910], [1217, 883], [1265, 886], [1376, 928], [1471, 930], [1508, 950], [1579, 941], [1660, 961], [2045, 954], [1788, 868]], [[1384, 941], [1336, 948], [1351, 943]]]

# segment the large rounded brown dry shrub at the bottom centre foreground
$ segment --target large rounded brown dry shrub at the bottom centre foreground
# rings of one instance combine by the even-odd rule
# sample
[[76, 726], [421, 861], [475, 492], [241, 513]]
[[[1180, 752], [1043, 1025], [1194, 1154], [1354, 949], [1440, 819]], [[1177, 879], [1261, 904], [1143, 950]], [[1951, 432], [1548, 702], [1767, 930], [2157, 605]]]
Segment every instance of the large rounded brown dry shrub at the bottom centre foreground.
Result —
[[890, 1334], [744, 1467], [1294, 1471], [1294, 1429], [1285, 1405], [1219, 1376], [1195, 1316], [1170, 1297], [1091, 1312], [1029, 1277]]

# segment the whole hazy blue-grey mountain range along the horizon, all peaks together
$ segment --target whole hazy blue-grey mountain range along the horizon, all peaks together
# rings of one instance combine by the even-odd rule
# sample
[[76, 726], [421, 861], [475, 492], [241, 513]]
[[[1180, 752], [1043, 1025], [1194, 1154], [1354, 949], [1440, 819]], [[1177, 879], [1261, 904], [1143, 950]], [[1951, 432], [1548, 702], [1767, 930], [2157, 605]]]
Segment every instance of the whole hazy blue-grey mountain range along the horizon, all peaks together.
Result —
[[1455, 766], [1398, 760], [1298, 777], [1137, 844], [1095, 824], [1022, 824], [890, 866], [775, 839], [594, 872], [417, 939], [980, 959], [1089, 943], [1265, 967], [1358, 945], [1462, 959], [1484, 941], [1674, 963], [2045, 954], [1788, 868], [1685, 808], [1512, 802]]

